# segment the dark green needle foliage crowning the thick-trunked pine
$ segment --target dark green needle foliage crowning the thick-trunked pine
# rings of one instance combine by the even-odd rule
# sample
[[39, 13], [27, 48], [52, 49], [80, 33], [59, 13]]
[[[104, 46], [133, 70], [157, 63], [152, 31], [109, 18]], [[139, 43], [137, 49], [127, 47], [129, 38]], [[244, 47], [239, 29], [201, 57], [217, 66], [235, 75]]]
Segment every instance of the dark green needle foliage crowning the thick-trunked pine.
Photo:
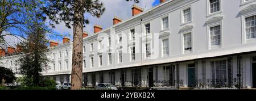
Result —
[[[84, 19], [84, 16], [80, 16], [79, 19], [75, 18], [75, 14], [88, 12], [92, 16], [100, 18], [105, 11], [104, 4], [98, 0], [85, 0], [85, 1], [66, 1], [66, 0], [47, 0], [46, 6], [43, 7], [43, 11], [48, 15], [56, 24], [61, 22], [65, 23], [65, 26], [71, 28], [75, 20], [82, 22], [82, 24], [88, 24], [89, 19]], [[77, 10], [77, 11], [75, 11]], [[55, 27], [54, 24], [50, 24]], [[85, 27], [85, 26], [84, 26]]]

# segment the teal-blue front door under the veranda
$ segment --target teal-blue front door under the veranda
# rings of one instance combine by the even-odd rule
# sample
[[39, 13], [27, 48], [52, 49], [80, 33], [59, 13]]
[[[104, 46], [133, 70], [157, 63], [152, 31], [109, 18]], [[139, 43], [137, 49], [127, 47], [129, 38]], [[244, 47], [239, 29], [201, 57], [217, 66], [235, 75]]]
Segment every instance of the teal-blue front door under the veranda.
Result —
[[196, 78], [195, 78], [195, 68], [188, 68], [188, 87], [193, 87], [193, 85], [195, 85], [196, 82]]

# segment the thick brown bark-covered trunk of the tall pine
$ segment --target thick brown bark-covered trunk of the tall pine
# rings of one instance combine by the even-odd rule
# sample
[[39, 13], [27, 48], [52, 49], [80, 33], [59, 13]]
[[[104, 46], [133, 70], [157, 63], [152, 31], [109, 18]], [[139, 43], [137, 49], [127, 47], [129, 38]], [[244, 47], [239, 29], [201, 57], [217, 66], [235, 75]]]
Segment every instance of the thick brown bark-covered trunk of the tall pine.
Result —
[[74, 24], [73, 24], [73, 54], [72, 54], [72, 73], [71, 73], [71, 90], [82, 88], [82, 32], [84, 11], [81, 9], [81, 2], [75, 2]]

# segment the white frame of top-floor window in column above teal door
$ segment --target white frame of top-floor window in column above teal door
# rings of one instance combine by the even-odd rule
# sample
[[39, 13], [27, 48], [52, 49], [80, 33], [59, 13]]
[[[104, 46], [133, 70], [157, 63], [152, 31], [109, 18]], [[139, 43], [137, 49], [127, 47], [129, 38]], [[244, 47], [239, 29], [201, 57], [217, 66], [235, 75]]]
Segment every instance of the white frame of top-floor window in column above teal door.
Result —
[[[184, 22], [184, 10], [187, 10], [187, 9], [189, 9], [190, 8], [190, 17], [191, 17], [191, 19], [190, 19], [190, 21], [189, 22]], [[188, 23], [191, 23], [191, 22], [193, 22], [193, 10], [192, 10], [192, 5], [189, 5], [189, 6], [187, 6], [187, 7], [184, 7], [183, 9], [181, 9], [180, 10], [180, 16], [181, 16], [181, 20], [180, 20], [180, 22], [181, 22], [181, 25], [180, 26], [184, 26], [185, 24], [188, 24]]]

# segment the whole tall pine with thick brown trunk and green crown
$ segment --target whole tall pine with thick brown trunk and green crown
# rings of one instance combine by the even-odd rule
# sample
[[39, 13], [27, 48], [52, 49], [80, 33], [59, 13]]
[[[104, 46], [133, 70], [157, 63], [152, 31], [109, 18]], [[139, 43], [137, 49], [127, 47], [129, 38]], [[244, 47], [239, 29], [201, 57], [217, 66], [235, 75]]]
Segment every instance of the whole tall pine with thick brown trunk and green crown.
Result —
[[[105, 11], [103, 3], [98, 0], [48, 0], [44, 12], [56, 24], [64, 22], [68, 28], [73, 26], [73, 54], [71, 89], [82, 87], [82, 33], [85, 24], [89, 23], [84, 14], [100, 18]], [[51, 24], [53, 27], [54, 25]]]

